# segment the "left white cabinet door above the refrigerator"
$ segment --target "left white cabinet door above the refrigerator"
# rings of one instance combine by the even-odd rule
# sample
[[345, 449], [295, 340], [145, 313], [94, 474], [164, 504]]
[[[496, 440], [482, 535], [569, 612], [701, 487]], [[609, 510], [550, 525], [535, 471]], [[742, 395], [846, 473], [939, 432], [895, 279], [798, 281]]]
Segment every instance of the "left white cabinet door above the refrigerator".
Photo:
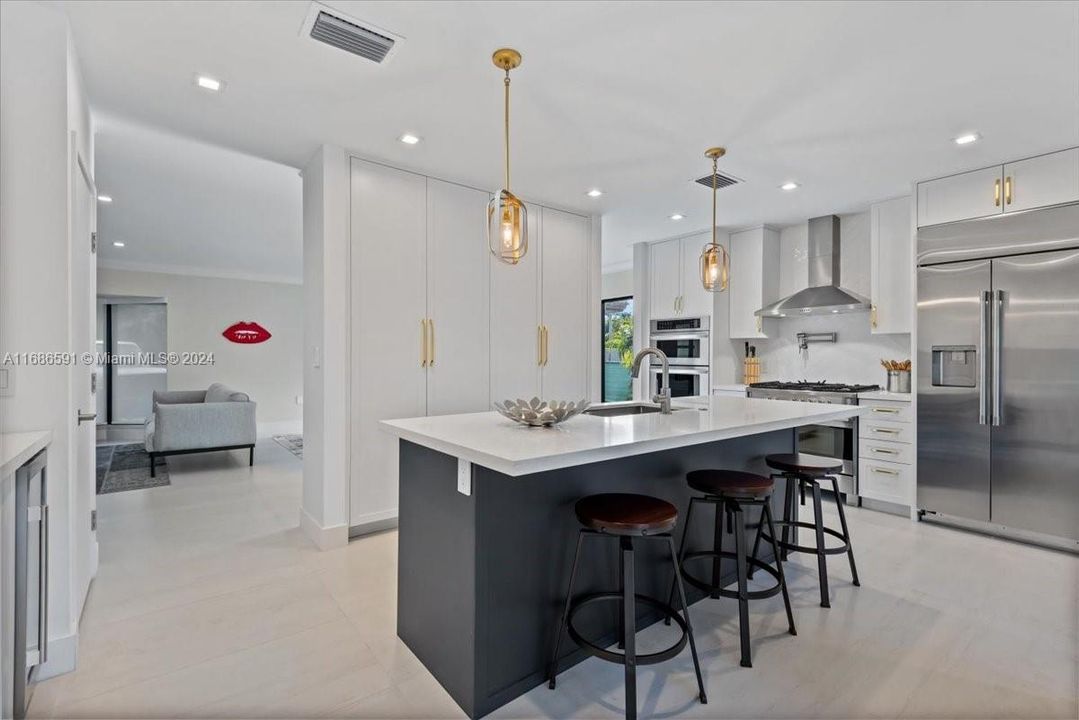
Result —
[[918, 184], [918, 227], [999, 215], [1003, 212], [1000, 165]]

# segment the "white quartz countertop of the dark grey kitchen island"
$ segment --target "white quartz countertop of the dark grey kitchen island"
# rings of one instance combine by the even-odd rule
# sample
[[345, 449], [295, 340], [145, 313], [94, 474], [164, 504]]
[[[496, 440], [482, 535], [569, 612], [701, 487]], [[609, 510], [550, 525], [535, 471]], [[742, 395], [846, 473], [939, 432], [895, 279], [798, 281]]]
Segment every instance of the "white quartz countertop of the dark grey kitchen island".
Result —
[[671, 415], [577, 416], [554, 427], [527, 427], [494, 411], [380, 424], [402, 439], [516, 476], [843, 420], [864, 410], [724, 396], [675, 398], [673, 407], [680, 406], [685, 409]]

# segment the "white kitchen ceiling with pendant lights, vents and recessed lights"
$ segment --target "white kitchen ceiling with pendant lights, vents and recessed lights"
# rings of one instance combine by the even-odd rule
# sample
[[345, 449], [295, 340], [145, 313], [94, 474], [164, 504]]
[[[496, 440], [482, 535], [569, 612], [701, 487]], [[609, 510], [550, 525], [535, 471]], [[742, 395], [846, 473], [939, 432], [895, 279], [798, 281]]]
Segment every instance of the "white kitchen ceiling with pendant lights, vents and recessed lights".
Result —
[[[406, 39], [384, 66], [302, 38], [309, 3], [64, 6], [95, 109], [302, 166], [322, 142], [604, 215], [604, 263], [708, 226], [791, 223], [912, 180], [1079, 145], [1077, 2], [345, 2]], [[228, 83], [220, 95], [195, 72]], [[424, 138], [407, 147], [402, 132]], [[983, 140], [956, 147], [976, 131]], [[104, 169], [104, 164], [103, 164]], [[784, 193], [788, 179], [802, 184]], [[606, 194], [584, 195], [591, 187]], [[681, 222], [671, 213], [686, 216]]]

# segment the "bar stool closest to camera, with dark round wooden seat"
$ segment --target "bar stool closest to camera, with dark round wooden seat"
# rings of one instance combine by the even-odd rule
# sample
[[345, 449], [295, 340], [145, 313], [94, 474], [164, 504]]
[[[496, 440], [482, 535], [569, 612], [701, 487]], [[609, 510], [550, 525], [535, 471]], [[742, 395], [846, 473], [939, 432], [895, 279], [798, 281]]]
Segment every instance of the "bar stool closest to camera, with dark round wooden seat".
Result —
[[[558, 652], [562, 643], [562, 633], [563, 630], [568, 630], [573, 641], [585, 650], [585, 652], [626, 667], [626, 717], [633, 720], [637, 718], [637, 666], [652, 665], [669, 660], [682, 652], [688, 640], [689, 651], [693, 653], [694, 669], [697, 671], [699, 698], [701, 704], [707, 703], [708, 696], [705, 694], [705, 682], [700, 676], [700, 663], [697, 660], [697, 646], [694, 642], [693, 626], [689, 623], [689, 607], [686, 604], [685, 588], [682, 585], [678, 562], [674, 558], [674, 541], [671, 540], [670, 534], [670, 531], [678, 522], [678, 510], [674, 505], [658, 498], [628, 493], [588, 495], [578, 500], [574, 510], [577, 520], [584, 527], [577, 533], [577, 549], [573, 556], [573, 569], [570, 571], [570, 585], [565, 593], [565, 608], [562, 611], [558, 634], [555, 636], [555, 652], [551, 655], [550, 665], [547, 670], [548, 687], [552, 690], [555, 689], [555, 677], [558, 675]], [[581, 547], [586, 536], [618, 538], [622, 560], [620, 588], [617, 593], [596, 593], [574, 600], [573, 583], [576, 579], [577, 567], [581, 561]], [[674, 584], [678, 587], [685, 619], [680, 616], [669, 603], [665, 604], [655, 598], [637, 594], [633, 568], [634, 539], [661, 540], [667, 542], [671, 554], [671, 566], [674, 568]], [[574, 616], [585, 606], [593, 602], [610, 601], [617, 601], [622, 610], [618, 622], [620, 637], [618, 647], [624, 648], [624, 652], [612, 652], [605, 648], [601, 648], [585, 639], [573, 625]], [[638, 602], [659, 610], [666, 617], [672, 617], [682, 629], [682, 636], [678, 642], [659, 652], [644, 655], [637, 654]]]

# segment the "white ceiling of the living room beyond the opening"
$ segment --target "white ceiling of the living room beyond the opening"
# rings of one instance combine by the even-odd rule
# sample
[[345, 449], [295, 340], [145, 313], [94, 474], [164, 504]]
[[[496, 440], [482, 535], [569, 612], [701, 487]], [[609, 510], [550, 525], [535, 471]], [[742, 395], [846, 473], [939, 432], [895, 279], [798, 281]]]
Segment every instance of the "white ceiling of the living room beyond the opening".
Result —
[[303, 181], [295, 167], [95, 121], [97, 191], [112, 198], [97, 204], [103, 264], [302, 281]]

